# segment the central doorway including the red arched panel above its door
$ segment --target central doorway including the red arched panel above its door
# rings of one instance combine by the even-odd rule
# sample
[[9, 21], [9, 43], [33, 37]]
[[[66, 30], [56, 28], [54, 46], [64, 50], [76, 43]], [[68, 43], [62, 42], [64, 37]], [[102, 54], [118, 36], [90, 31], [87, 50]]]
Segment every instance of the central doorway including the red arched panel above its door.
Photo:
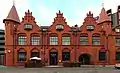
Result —
[[57, 65], [58, 63], [58, 52], [56, 49], [51, 49], [49, 53], [50, 65]]

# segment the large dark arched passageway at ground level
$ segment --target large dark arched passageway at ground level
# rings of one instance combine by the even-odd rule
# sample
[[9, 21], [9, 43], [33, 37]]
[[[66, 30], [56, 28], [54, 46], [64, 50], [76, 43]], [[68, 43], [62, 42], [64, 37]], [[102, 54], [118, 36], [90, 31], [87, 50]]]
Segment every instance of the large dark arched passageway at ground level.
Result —
[[79, 56], [79, 62], [82, 65], [90, 65], [90, 55], [89, 54], [82, 54]]

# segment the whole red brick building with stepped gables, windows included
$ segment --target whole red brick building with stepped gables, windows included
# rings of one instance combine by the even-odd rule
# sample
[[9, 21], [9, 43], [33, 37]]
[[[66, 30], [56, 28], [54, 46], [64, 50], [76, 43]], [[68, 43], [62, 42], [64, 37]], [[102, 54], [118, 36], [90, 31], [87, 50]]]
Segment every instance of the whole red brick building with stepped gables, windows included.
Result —
[[20, 22], [14, 5], [3, 22], [6, 66], [23, 65], [31, 57], [40, 57], [46, 65], [65, 61], [93, 65], [120, 62], [120, 26], [112, 27], [104, 8], [98, 20], [87, 13], [80, 27], [70, 27], [60, 11], [49, 26], [38, 26], [29, 10]]

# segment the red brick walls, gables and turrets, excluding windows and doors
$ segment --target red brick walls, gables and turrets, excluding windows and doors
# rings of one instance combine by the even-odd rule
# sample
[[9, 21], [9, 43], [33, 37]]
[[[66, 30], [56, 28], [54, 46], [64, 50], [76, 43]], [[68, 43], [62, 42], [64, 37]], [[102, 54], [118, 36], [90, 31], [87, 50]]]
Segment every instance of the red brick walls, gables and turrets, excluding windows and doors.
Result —
[[[14, 14], [13, 14], [13, 13]], [[104, 8], [101, 10], [98, 21], [93, 17], [93, 14], [89, 12], [84, 19], [83, 25], [78, 27], [70, 27], [67, 24], [63, 13], [60, 11], [56, 14], [52, 25], [38, 26], [35, 22], [35, 18], [28, 10], [25, 12], [24, 18], [19, 22], [19, 18], [15, 9], [12, 7], [8, 17], [4, 19], [5, 23], [5, 65], [6, 66], [19, 66], [31, 57], [31, 52], [39, 52], [39, 56], [42, 62], [46, 65], [50, 65], [50, 52], [57, 52], [57, 65], [62, 64], [62, 52], [70, 52], [70, 62], [80, 62], [80, 56], [89, 56], [90, 64], [115, 64], [120, 62], [116, 60], [116, 51], [119, 51], [120, 46], [116, 46], [116, 37], [120, 38], [120, 33], [115, 32], [112, 21], [106, 16]], [[25, 30], [25, 24], [32, 24], [32, 29]], [[56, 30], [56, 26], [62, 24], [63, 30]], [[93, 25], [94, 29], [87, 30], [88, 25]], [[45, 31], [44, 31], [45, 29]], [[89, 29], [89, 28], [88, 28]], [[18, 45], [18, 36], [26, 36], [26, 45]], [[39, 45], [31, 45], [31, 36], [37, 35], [40, 37]], [[50, 45], [50, 37], [57, 36], [58, 44]], [[62, 36], [70, 37], [70, 45], [62, 45]], [[88, 44], [81, 45], [80, 37], [87, 36]], [[93, 45], [93, 36], [100, 37], [100, 44]], [[106, 52], [105, 60], [99, 60], [99, 52]], [[18, 61], [18, 52], [26, 52], [26, 61]], [[85, 58], [84, 58], [85, 60]]]

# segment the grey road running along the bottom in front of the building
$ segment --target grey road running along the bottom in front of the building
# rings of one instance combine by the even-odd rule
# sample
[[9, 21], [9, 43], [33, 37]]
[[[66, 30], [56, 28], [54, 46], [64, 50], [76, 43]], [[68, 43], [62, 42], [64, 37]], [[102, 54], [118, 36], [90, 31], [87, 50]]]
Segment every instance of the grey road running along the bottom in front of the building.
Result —
[[0, 68], [0, 73], [120, 73], [113, 67], [100, 68]]

